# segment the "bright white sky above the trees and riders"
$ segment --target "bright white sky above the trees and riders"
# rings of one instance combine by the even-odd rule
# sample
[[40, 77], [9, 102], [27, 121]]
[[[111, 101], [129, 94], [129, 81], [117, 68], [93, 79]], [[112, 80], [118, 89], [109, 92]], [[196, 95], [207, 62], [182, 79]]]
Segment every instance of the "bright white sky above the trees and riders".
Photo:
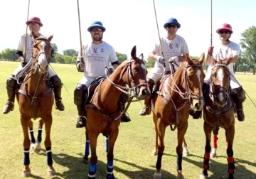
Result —
[[[153, 3], [154, 2], [154, 3]], [[156, 7], [156, 16], [154, 12]], [[137, 56], [146, 59], [159, 41], [166, 36], [164, 23], [174, 17], [181, 23], [177, 34], [185, 38], [190, 55], [200, 56], [210, 46], [219, 43], [215, 31], [222, 23], [230, 23], [233, 34], [230, 40], [240, 43], [241, 33], [256, 26], [255, 0], [212, 0], [212, 26], [210, 0], [94, 0], [79, 1], [82, 44], [90, 43], [87, 27], [92, 21], [101, 21], [106, 31], [103, 40], [110, 43], [118, 53], [130, 57], [132, 47], [137, 45]], [[21, 36], [26, 33], [26, 20], [32, 16], [41, 18], [44, 36], [53, 34], [52, 43], [63, 50], [80, 50], [77, 0], [28, 0], [0, 1], [0, 52], [15, 49]], [[159, 27], [157, 31], [156, 18]]]

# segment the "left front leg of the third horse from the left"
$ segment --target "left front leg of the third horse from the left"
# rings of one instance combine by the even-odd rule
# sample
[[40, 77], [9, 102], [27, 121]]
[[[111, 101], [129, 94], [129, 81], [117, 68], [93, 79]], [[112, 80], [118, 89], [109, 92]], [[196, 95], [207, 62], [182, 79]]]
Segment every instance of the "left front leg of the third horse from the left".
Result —
[[161, 123], [161, 119], [158, 119], [160, 122], [156, 121], [156, 127], [157, 127], [157, 135], [159, 136], [159, 143], [157, 144], [157, 161], [156, 161], [156, 172], [154, 173], [154, 179], [160, 179], [161, 178], [161, 159], [164, 153], [164, 135], [166, 126], [164, 123]]

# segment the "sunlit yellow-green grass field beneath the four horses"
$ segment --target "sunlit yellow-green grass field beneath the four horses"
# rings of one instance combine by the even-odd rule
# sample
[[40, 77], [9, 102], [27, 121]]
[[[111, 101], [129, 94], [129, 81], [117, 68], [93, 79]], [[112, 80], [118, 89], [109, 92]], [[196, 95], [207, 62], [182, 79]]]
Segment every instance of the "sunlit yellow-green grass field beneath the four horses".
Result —
[[[18, 63], [0, 62], [0, 109], [6, 103], [6, 78]], [[73, 104], [73, 91], [80, 81], [82, 73], [75, 65], [52, 64], [53, 69], [63, 80], [63, 102], [65, 111], [53, 109], [51, 131], [53, 166], [57, 175], [52, 178], [87, 178], [88, 166], [82, 164], [85, 150], [85, 129], [76, 129], [77, 112]], [[236, 74], [253, 102], [256, 102], [256, 76]], [[154, 148], [154, 123], [151, 116], [139, 116], [142, 103], [136, 102], [129, 107], [132, 121], [119, 126], [119, 136], [114, 148], [114, 175], [118, 179], [152, 178], [155, 171], [156, 156], [151, 156]], [[256, 108], [247, 100], [244, 103], [245, 121], [235, 121], [235, 178], [256, 178]], [[96, 119], [95, 119], [96, 120]], [[38, 123], [34, 122], [34, 131]], [[44, 136], [44, 131], [43, 131]], [[220, 129], [218, 140], [218, 158], [210, 160], [211, 179], [228, 177], [228, 163], [225, 152], [225, 134]], [[44, 140], [44, 138], [43, 138]], [[191, 156], [183, 157], [183, 175], [185, 178], [199, 178], [203, 167], [205, 135], [203, 119], [188, 119], [186, 141]], [[166, 129], [165, 151], [162, 159], [162, 178], [176, 178], [176, 131]], [[41, 153], [31, 152], [30, 178], [48, 178], [46, 175], [46, 151], [42, 145]], [[107, 157], [105, 139], [102, 135], [97, 144], [98, 170], [96, 177], [105, 178]], [[18, 105], [9, 114], [0, 114], [0, 178], [21, 178], [23, 169], [23, 132], [19, 121]]]

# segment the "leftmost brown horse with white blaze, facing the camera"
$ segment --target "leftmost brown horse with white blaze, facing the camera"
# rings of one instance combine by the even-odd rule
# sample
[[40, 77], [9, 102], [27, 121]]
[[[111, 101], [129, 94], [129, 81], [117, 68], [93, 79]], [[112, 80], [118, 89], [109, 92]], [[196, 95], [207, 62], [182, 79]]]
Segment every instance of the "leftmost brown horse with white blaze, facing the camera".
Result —
[[31, 141], [28, 135], [29, 126], [31, 128], [31, 118], [41, 118], [46, 129], [46, 155], [48, 165], [48, 175], [55, 175], [53, 168], [53, 159], [51, 153], [50, 128], [53, 122], [52, 107], [53, 107], [53, 92], [48, 86], [47, 72], [50, 63], [51, 50], [50, 40], [48, 38], [36, 38], [33, 43], [32, 65], [26, 75], [20, 89], [18, 90], [17, 99], [20, 111], [21, 126], [23, 129], [23, 153], [24, 153], [24, 169], [23, 177], [31, 175], [29, 167], [29, 148]]

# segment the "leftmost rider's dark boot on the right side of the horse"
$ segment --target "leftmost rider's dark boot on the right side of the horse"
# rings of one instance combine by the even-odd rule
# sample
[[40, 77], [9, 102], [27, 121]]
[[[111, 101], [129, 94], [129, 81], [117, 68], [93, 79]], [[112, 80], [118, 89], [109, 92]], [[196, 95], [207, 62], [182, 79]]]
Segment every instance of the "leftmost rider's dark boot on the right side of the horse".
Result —
[[64, 111], [65, 107], [62, 102], [61, 98], [61, 88], [62, 83], [60, 78], [57, 75], [54, 75], [53, 77], [50, 77], [50, 82], [53, 85], [53, 92], [55, 97], [55, 109], [59, 109], [60, 111]]

